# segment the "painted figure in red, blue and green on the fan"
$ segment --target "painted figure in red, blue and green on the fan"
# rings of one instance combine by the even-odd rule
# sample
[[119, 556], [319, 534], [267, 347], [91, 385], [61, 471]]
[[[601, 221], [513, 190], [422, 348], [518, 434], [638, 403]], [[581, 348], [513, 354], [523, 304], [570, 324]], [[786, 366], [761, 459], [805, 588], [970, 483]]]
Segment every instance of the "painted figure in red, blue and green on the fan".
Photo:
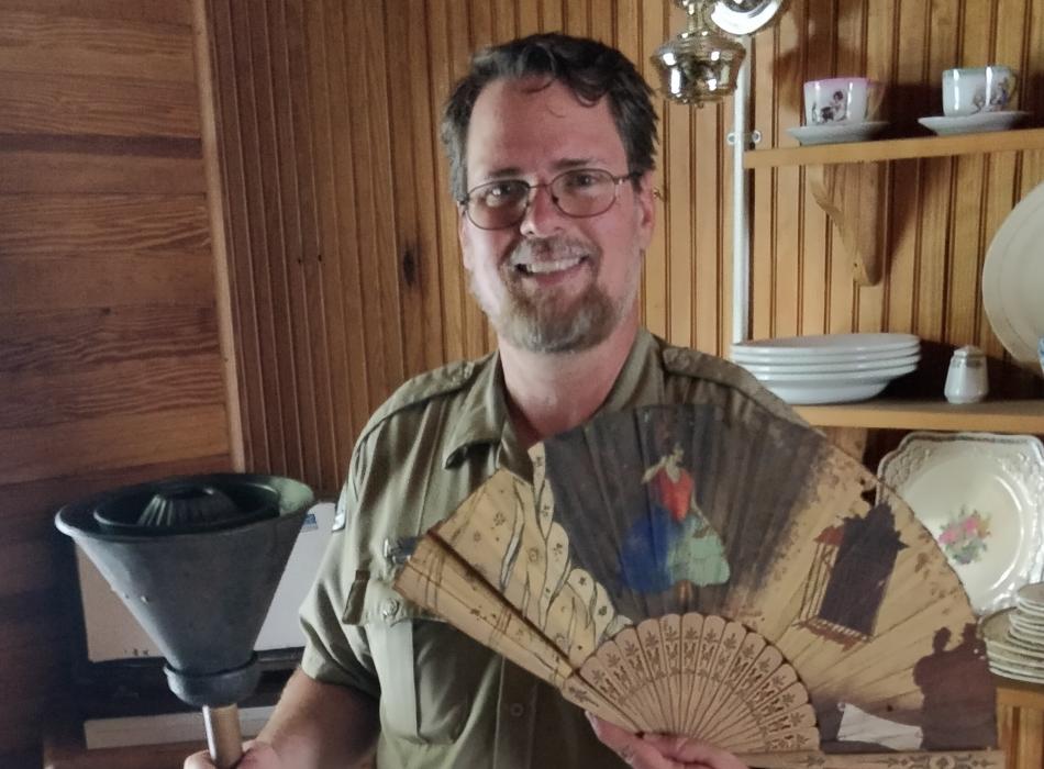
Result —
[[681, 465], [679, 444], [645, 470], [647, 514], [635, 521], [620, 548], [620, 578], [631, 590], [658, 593], [684, 582], [729, 579], [721, 537], [696, 504], [696, 482]]

